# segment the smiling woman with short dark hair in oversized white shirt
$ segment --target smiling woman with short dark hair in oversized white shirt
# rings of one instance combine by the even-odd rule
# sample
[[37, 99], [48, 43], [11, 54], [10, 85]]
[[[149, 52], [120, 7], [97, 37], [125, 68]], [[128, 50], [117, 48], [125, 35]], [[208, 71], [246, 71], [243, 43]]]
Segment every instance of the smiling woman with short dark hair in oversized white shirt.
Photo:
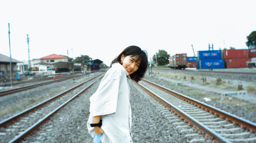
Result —
[[133, 142], [129, 78], [138, 82], [147, 69], [147, 55], [137, 46], [125, 48], [111, 63], [90, 97], [89, 133], [94, 142]]

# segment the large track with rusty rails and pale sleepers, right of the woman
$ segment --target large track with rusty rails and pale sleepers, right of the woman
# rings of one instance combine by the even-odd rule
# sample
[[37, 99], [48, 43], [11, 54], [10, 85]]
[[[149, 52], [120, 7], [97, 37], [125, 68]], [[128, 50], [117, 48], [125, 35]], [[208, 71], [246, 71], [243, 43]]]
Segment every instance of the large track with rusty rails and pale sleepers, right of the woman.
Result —
[[148, 80], [138, 85], [163, 105], [157, 108], [166, 108], [168, 122], [176, 125], [190, 142], [256, 142], [255, 123]]

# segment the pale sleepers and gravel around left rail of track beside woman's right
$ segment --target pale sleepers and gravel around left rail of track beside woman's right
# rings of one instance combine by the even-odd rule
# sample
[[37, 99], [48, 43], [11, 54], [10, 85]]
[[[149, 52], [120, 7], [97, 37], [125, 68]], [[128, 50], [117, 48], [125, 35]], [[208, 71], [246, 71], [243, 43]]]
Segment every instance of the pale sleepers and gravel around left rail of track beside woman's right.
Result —
[[[172, 103], [174, 106], [176, 106], [176, 108], [179, 108], [182, 111], [186, 112], [189, 116], [193, 117], [197, 121], [209, 127], [211, 130], [216, 131], [217, 133], [219, 133], [220, 135], [224, 136], [225, 138], [232, 142], [239, 142], [241, 140], [246, 140], [245, 142], [250, 142], [252, 140], [255, 141], [256, 139], [255, 133], [250, 133], [249, 130], [242, 129], [239, 125], [233, 125], [232, 122], [226, 121], [226, 119], [220, 118], [219, 116], [214, 116], [212, 113], [205, 111], [205, 109], [201, 109], [198, 106], [181, 100], [178, 97], [172, 96], [154, 87], [151, 84], [148, 84], [146, 82], [140, 82], [140, 84], [144, 85], [147, 89], [150, 89], [155, 94], [165, 99], [167, 102]], [[166, 113], [166, 116], [167, 115], [170, 115], [170, 111]], [[197, 131], [193, 130], [193, 126], [188, 127], [188, 125], [184, 123], [185, 121], [183, 122], [175, 116], [171, 118], [172, 119], [168, 120], [168, 122], [172, 121], [171, 123], [175, 124], [176, 128], [180, 128], [182, 130], [180, 132], [185, 134], [185, 137], [189, 140], [189, 142], [207, 142], [212, 139], [211, 138], [205, 140], [204, 137], [198, 134], [198, 129]]]

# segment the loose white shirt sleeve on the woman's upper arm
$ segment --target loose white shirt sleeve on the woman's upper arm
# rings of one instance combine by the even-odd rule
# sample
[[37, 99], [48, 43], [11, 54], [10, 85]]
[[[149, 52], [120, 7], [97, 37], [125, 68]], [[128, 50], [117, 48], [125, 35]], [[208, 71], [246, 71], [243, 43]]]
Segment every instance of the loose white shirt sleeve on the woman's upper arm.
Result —
[[116, 112], [121, 70], [110, 69], [90, 98], [90, 112], [93, 117]]

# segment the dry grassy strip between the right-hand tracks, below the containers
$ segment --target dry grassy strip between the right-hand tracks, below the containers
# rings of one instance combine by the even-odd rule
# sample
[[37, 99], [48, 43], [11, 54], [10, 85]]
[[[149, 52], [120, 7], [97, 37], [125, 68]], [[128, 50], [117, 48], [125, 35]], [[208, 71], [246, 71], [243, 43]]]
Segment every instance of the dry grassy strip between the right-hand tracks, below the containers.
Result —
[[[166, 72], [155, 73], [156, 76], [165, 77], [175, 81], [190, 81], [190, 86], [177, 84], [177, 88], [183, 90], [182, 94], [188, 95], [193, 98], [193, 96], [201, 96], [202, 98], [207, 97], [210, 100], [217, 101], [220, 103], [229, 104], [232, 106], [240, 106], [245, 110], [250, 110], [256, 113], [255, 103], [245, 102], [245, 100], [238, 99], [232, 96], [225, 95], [223, 100], [221, 100], [221, 95], [215, 92], [212, 92], [210, 89], [215, 91], [238, 91], [238, 85], [244, 84], [244, 90], [248, 94], [254, 95], [256, 98], [256, 83], [245, 83], [241, 81], [231, 81], [224, 80], [221, 78], [211, 78], [211, 77], [202, 77], [195, 75], [185, 75], [185, 74], [174, 74]], [[184, 78], [186, 77], [186, 78]], [[206, 78], [206, 81], [203, 82], [203, 78]], [[205, 80], [205, 79], [204, 79]], [[176, 86], [176, 83], [171, 83], [173, 86]], [[195, 85], [195, 86], [194, 86]], [[195, 88], [196, 87], [196, 88]], [[200, 88], [199, 88], [200, 87]], [[203, 89], [203, 90], [202, 90]], [[242, 91], [244, 91], [242, 90]]]

